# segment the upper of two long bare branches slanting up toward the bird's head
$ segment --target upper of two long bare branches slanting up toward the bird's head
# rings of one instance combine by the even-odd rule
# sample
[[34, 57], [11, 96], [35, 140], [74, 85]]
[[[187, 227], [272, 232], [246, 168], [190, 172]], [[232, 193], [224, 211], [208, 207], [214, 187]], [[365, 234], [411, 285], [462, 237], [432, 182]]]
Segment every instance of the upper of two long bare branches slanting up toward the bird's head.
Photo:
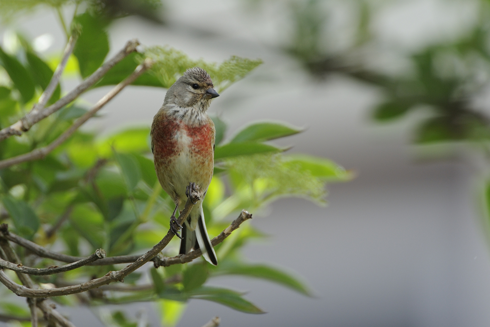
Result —
[[[69, 43], [70, 45], [70, 43]], [[61, 98], [60, 100], [56, 101], [55, 103], [51, 104], [49, 107], [45, 108], [44, 110], [37, 110], [34, 111], [32, 110], [28, 114], [26, 114], [21, 120], [19, 120], [17, 123], [5, 127], [2, 130], [0, 130], [0, 142], [7, 137], [10, 137], [12, 135], [22, 135], [22, 132], [28, 131], [34, 124], [38, 123], [39, 121], [45, 119], [52, 113], [58, 111], [68, 103], [72, 102], [75, 100], [80, 94], [85, 92], [88, 88], [93, 86], [95, 83], [98, 82], [100, 78], [102, 78], [103, 75], [105, 75], [112, 67], [114, 67], [118, 62], [123, 60], [129, 53], [136, 51], [136, 47], [139, 45], [139, 42], [137, 40], [131, 40], [126, 43], [126, 46], [124, 49], [119, 51], [113, 58], [111, 58], [109, 61], [104, 63], [102, 66], [98, 68], [94, 72], [94, 74], [90, 75], [85, 79], [83, 82], [81, 82], [77, 87], [75, 87], [70, 93], [68, 93], [66, 96]], [[65, 50], [66, 54], [66, 50]], [[61, 63], [60, 63], [61, 65]], [[58, 66], [59, 68], [59, 66]], [[58, 68], [56, 71], [58, 71]], [[54, 78], [54, 75], [53, 75]], [[52, 81], [52, 79], [51, 79]]]

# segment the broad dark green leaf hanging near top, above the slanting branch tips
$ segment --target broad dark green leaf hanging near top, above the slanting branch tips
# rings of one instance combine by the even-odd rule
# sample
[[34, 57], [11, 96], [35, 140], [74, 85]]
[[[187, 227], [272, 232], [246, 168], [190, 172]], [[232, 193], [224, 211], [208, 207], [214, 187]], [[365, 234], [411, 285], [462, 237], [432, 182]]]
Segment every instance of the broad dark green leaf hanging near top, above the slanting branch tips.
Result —
[[109, 52], [109, 38], [104, 30], [106, 24], [101, 18], [84, 13], [76, 16], [73, 21], [82, 27], [73, 54], [78, 59], [80, 75], [85, 78], [104, 62]]

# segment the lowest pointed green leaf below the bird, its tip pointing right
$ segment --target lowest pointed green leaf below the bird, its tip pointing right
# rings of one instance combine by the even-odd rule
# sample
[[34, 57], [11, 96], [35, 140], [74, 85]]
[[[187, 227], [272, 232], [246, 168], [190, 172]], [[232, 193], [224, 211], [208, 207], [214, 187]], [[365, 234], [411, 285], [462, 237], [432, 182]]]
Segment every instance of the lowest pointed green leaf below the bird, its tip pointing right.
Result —
[[265, 313], [255, 304], [242, 298], [241, 293], [226, 288], [200, 287], [191, 292], [191, 298], [217, 302], [246, 313]]

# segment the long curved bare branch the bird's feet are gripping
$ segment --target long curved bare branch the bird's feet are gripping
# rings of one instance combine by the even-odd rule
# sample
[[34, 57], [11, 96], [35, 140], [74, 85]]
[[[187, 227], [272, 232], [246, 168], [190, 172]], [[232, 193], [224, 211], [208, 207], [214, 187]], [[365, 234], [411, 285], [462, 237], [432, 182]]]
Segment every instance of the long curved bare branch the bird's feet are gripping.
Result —
[[[191, 212], [191, 209], [194, 207], [194, 203], [192, 199], [198, 198], [199, 194], [198, 192], [193, 192], [189, 199], [187, 199], [187, 202], [185, 204], [184, 209], [179, 215], [178, 218], [178, 223], [182, 224], [185, 219], [187, 219], [187, 216], [189, 216], [189, 213]], [[140, 268], [143, 266], [145, 263], [150, 261], [154, 256], [156, 256], [158, 253], [160, 253], [172, 240], [174, 234], [172, 231], [169, 229], [167, 232], [167, 235], [158, 242], [151, 250], [146, 252], [144, 255], [142, 255], [138, 260], [133, 262], [132, 264], [124, 267], [122, 270], [119, 271], [110, 271], [106, 275], [100, 278], [92, 279], [89, 280], [85, 283], [81, 283], [78, 285], [73, 285], [73, 286], [66, 286], [66, 287], [59, 287], [59, 288], [50, 288], [50, 289], [43, 289], [43, 290], [35, 290], [31, 288], [27, 288], [25, 286], [21, 286], [11, 280], [3, 271], [0, 271], [0, 282], [3, 283], [9, 290], [17, 294], [18, 296], [22, 297], [27, 297], [27, 298], [45, 298], [45, 297], [53, 297], [53, 296], [61, 296], [61, 295], [69, 295], [69, 294], [75, 294], [75, 293], [81, 293], [85, 292], [94, 288], [97, 288], [99, 286], [105, 285], [112, 283], [114, 281], [124, 281], [124, 277], [127, 275], [131, 274], [134, 272], [136, 269]], [[6, 242], [4, 239], [0, 239], [1, 242]], [[18, 273], [19, 276], [25, 276], [23, 274]], [[22, 279], [21, 279], [22, 280]]]

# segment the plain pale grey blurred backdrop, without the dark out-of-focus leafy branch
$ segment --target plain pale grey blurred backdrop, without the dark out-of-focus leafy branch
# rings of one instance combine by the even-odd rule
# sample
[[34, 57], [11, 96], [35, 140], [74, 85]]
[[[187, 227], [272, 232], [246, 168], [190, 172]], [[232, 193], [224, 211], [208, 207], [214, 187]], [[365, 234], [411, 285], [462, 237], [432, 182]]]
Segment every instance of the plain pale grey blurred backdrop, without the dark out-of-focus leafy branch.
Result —
[[[248, 259], [295, 272], [316, 298], [254, 279], [221, 278], [220, 285], [248, 291], [247, 298], [268, 313], [249, 315], [191, 300], [178, 326], [201, 326], [216, 315], [221, 326], [234, 327], [488, 326], [490, 250], [480, 221], [474, 160], [464, 155], [417, 159], [417, 149], [410, 146], [417, 114], [389, 125], [374, 123], [369, 108], [379, 101], [377, 89], [342, 75], [308, 75], [280, 50], [290, 31], [277, 2], [257, 10], [244, 1], [169, 0], [167, 25], [128, 17], [110, 29], [111, 51], [138, 38], [143, 45], [169, 44], [208, 61], [230, 55], [263, 59], [211, 105], [210, 111], [229, 124], [227, 136], [264, 119], [304, 126], [304, 133], [283, 145], [330, 158], [357, 174], [329, 187], [326, 207], [288, 199], [254, 215], [252, 223], [270, 238], [248, 246]], [[457, 34], [471, 23], [474, 10], [471, 1], [392, 1], [379, 12], [374, 28], [393, 47], [417, 49]], [[334, 21], [343, 24], [342, 12]], [[57, 19], [48, 11], [26, 16], [13, 27], [32, 38], [52, 35], [48, 52], [63, 46]], [[2, 35], [5, 30], [2, 26]], [[378, 59], [392, 65], [389, 57]], [[75, 82], [67, 81], [64, 89]], [[101, 87], [84, 99], [94, 103], [105, 92]], [[128, 87], [85, 128], [109, 133], [122, 126], [148, 126], [164, 96], [160, 88]], [[127, 311], [141, 308], [151, 325], [159, 326], [151, 303]], [[103, 326], [88, 308], [60, 311], [76, 326]]]

